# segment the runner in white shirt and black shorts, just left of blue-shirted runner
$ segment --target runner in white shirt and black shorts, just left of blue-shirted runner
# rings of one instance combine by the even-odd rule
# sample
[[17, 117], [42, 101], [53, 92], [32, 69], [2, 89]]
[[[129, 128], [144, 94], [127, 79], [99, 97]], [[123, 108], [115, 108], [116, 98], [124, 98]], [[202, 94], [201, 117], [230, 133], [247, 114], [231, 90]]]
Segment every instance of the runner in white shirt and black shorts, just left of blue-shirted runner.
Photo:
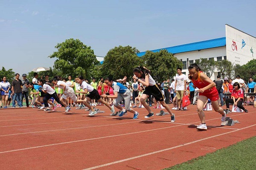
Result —
[[114, 107], [113, 106], [111, 107], [108, 104], [108, 102], [104, 101], [99, 95], [99, 92], [96, 89], [94, 89], [93, 86], [89, 85], [87, 82], [84, 81], [84, 77], [79, 76], [77, 80], [78, 80], [77, 82], [80, 85], [80, 88], [83, 89], [84, 91], [77, 90], [76, 93], [87, 94], [89, 92], [89, 94], [85, 97], [84, 101], [82, 100], [84, 105], [86, 105], [92, 111], [89, 114], [89, 116], [93, 116], [97, 113], [88, 103], [91, 99], [97, 99], [99, 102], [102, 102], [104, 105], [106, 105], [110, 109], [112, 114], [115, 113]]

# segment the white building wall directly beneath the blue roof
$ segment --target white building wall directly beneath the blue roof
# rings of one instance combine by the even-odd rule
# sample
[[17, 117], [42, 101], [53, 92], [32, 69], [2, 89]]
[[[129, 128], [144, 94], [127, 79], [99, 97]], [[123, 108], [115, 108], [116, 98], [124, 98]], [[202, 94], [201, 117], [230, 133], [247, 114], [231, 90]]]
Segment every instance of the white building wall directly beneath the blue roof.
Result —
[[[186, 68], [189, 67], [190, 63], [189, 60], [193, 60], [192, 63], [195, 63], [195, 59], [200, 58], [214, 58], [215, 61], [218, 59], [224, 59], [224, 56], [226, 55], [226, 46], [224, 47], [218, 47], [218, 48], [209, 48], [205, 50], [200, 51], [189, 51], [185, 53], [178, 53], [174, 55], [177, 57], [177, 59], [182, 59], [182, 61], [186, 61]], [[186, 72], [185, 74], [188, 75], [189, 71], [188, 69], [183, 69], [182, 72]], [[217, 79], [218, 71], [215, 70], [214, 74], [212, 74], [212, 77], [210, 77], [212, 80]]]

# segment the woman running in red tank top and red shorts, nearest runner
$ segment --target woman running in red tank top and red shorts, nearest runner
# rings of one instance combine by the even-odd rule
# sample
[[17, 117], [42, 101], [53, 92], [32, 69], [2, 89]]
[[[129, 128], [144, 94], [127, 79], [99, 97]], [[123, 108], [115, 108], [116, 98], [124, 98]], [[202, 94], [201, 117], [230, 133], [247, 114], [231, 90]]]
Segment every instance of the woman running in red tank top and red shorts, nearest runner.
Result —
[[208, 98], [212, 101], [212, 108], [222, 115], [221, 122], [224, 122], [226, 113], [219, 107], [219, 95], [215, 83], [207, 77], [195, 63], [189, 66], [189, 79], [191, 79], [195, 87], [199, 88], [197, 109], [201, 124], [198, 125], [197, 129], [207, 130], [203, 108], [204, 104], [208, 101]]

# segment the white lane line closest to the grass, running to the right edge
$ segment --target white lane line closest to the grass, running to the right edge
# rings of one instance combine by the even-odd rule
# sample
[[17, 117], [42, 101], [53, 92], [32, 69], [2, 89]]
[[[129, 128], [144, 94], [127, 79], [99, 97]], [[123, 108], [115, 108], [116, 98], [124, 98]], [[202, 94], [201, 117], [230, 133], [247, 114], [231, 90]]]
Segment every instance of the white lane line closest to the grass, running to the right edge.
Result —
[[132, 159], [137, 159], [137, 158], [141, 158], [141, 157], [144, 157], [144, 156], [153, 155], [155, 153], [160, 153], [160, 152], [164, 152], [164, 151], [167, 151], [167, 150], [172, 150], [172, 149], [175, 149], [175, 148], [178, 148], [178, 147], [183, 147], [183, 146], [186, 146], [186, 145], [189, 145], [189, 144], [193, 144], [193, 143], [196, 143], [196, 142], [201, 142], [203, 140], [215, 138], [217, 136], [222, 136], [222, 135], [226, 135], [228, 133], [233, 133], [233, 132], [236, 132], [236, 131], [239, 131], [239, 130], [244, 130], [246, 128], [253, 127], [255, 125], [256, 124], [251, 125], [251, 126], [247, 126], [247, 127], [243, 127], [241, 129], [233, 130], [233, 131], [230, 131], [230, 132], [221, 133], [221, 134], [214, 135], [214, 136], [209, 136], [209, 137], [204, 138], [204, 139], [199, 139], [199, 140], [196, 140], [196, 141], [193, 141], [193, 142], [188, 142], [188, 143], [185, 143], [185, 144], [180, 144], [180, 145], [177, 145], [175, 147], [169, 147], [169, 148], [166, 148], [166, 149], [163, 149], [163, 150], [157, 150], [157, 151], [154, 151], [154, 152], [151, 152], [151, 153], [146, 153], [146, 154], [143, 154], [143, 155], [134, 156], [134, 157], [127, 158], [127, 159], [121, 159], [119, 161], [113, 161], [113, 162], [110, 162], [110, 163], [107, 163], [107, 164], [101, 164], [101, 165], [98, 165], [98, 166], [95, 166], [95, 167], [89, 167], [89, 168], [86, 168], [84, 170], [93, 170], [93, 169], [96, 169], [96, 168], [105, 167], [105, 166], [109, 166], [109, 165], [112, 165], [112, 164], [118, 164], [118, 163], [121, 163], [121, 162], [124, 162], [124, 161], [129, 161], [129, 160], [132, 160]]

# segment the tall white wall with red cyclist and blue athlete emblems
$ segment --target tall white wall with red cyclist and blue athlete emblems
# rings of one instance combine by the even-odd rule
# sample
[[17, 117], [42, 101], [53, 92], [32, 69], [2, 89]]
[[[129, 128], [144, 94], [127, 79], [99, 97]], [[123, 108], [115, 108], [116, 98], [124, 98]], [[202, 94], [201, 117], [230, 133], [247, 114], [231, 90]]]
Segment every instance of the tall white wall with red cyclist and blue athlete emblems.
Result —
[[256, 38], [226, 24], [227, 60], [244, 65], [256, 59]]

